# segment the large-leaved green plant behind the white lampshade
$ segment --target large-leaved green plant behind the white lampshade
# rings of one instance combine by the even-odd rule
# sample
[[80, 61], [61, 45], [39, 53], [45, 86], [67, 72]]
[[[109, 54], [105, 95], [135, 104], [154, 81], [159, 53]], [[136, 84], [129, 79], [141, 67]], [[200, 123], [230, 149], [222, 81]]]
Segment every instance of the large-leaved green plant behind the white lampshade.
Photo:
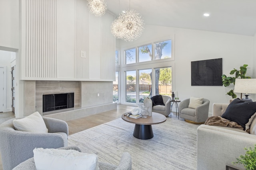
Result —
[[[237, 70], [236, 68], [234, 68], [234, 70], [231, 70], [229, 74], [235, 74], [235, 77], [227, 77], [225, 74], [223, 74], [222, 77], [222, 84], [227, 87], [230, 84], [234, 84], [235, 85], [235, 81], [236, 78], [240, 77], [240, 78], [250, 78], [249, 76], [245, 76], [246, 71], [247, 71], [247, 64], [244, 64], [242, 66], [240, 66], [240, 70]], [[232, 98], [236, 98], [236, 94], [234, 93], [234, 89], [230, 90], [227, 95], [232, 96]]]

